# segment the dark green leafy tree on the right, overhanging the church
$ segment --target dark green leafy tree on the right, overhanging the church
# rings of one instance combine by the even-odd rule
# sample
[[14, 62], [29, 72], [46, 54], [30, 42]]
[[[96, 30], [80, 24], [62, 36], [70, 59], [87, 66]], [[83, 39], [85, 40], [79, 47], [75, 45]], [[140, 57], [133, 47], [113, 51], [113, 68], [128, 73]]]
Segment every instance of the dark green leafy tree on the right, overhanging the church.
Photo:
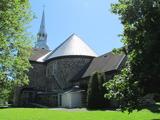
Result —
[[119, 101], [122, 110], [141, 109], [141, 98], [160, 93], [160, 1], [119, 0], [112, 12], [124, 26], [122, 51], [125, 68], [105, 84], [106, 97]]

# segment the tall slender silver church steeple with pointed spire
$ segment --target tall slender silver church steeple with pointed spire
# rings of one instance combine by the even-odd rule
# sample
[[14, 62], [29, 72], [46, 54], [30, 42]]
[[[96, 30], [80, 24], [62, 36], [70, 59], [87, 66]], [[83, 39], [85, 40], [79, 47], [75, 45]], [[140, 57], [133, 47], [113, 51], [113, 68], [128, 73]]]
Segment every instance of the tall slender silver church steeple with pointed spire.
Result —
[[45, 29], [45, 11], [43, 10], [42, 20], [39, 32], [37, 33], [37, 42], [35, 48], [41, 48], [48, 50], [49, 47], [47, 45], [47, 33]]

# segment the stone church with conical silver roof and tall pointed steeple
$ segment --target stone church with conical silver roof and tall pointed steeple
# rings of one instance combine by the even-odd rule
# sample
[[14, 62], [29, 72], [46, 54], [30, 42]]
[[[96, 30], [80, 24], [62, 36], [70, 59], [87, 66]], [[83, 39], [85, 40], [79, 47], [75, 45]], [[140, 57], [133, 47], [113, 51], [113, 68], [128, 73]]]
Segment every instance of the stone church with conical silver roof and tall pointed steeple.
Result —
[[43, 11], [37, 42], [30, 57], [29, 85], [17, 88], [14, 103], [18, 106], [38, 104], [48, 107], [85, 107], [90, 76], [95, 72], [112, 78], [123, 66], [125, 55], [112, 52], [98, 56], [75, 34], [56, 49], [47, 45]]

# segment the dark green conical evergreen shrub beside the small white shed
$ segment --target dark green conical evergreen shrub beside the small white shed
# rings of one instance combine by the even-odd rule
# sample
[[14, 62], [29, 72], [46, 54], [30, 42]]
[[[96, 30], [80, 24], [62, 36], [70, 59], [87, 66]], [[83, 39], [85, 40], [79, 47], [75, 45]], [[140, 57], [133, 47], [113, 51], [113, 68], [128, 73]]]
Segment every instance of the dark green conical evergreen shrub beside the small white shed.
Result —
[[87, 108], [101, 109], [106, 107], [104, 99], [105, 88], [103, 87], [105, 75], [102, 73], [94, 73], [88, 83], [87, 91]]

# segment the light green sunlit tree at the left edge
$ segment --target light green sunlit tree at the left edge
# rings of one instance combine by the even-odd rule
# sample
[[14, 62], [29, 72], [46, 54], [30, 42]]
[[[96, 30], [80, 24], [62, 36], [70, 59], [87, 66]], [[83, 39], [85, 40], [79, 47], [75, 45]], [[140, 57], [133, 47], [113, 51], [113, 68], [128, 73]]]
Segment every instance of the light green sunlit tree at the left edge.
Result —
[[0, 99], [7, 100], [15, 86], [28, 83], [31, 19], [28, 0], [0, 1]]

